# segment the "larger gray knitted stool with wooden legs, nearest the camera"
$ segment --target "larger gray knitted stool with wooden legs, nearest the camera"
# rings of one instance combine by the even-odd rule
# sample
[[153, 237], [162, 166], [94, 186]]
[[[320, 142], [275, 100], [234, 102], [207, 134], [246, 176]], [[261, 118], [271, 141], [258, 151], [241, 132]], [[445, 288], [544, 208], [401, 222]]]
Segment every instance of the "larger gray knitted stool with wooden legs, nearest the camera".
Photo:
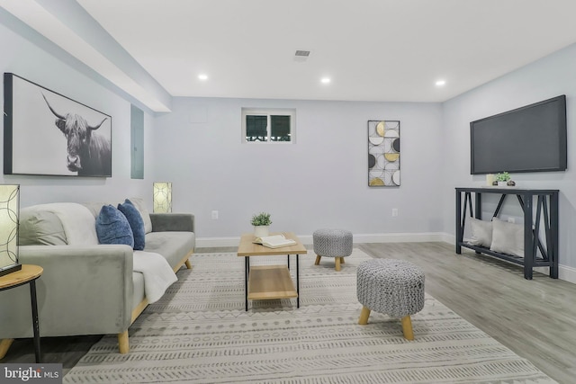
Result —
[[358, 324], [368, 323], [371, 310], [401, 317], [404, 337], [414, 340], [410, 315], [424, 308], [424, 272], [418, 266], [394, 259], [362, 262], [356, 271], [356, 296], [364, 306]]

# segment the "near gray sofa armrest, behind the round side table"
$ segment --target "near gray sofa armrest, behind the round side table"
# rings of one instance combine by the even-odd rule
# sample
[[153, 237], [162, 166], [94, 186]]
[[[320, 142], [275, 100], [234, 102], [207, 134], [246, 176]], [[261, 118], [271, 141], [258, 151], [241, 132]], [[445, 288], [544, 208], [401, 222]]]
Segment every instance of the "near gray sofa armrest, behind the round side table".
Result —
[[[20, 263], [40, 265], [41, 336], [116, 334], [130, 326], [130, 246], [20, 246]], [[0, 339], [30, 337], [28, 286], [0, 292]]]

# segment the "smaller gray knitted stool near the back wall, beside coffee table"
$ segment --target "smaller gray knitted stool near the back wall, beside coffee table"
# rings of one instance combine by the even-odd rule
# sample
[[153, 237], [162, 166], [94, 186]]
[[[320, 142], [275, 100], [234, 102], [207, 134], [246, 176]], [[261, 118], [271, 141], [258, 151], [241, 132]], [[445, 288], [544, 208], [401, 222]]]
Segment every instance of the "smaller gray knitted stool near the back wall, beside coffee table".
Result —
[[352, 255], [352, 232], [344, 229], [318, 229], [312, 234], [315, 265], [320, 264], [321, 257], [334, 257], [336, 270], [340, 271], [340, 263]]

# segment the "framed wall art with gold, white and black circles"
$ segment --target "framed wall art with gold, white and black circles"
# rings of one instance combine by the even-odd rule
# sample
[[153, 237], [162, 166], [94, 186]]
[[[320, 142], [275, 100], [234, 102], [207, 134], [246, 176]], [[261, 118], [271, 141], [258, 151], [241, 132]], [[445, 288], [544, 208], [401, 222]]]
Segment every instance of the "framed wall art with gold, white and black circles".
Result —
[[368, 121], [368, 186], [400, 186], [400, 121]]

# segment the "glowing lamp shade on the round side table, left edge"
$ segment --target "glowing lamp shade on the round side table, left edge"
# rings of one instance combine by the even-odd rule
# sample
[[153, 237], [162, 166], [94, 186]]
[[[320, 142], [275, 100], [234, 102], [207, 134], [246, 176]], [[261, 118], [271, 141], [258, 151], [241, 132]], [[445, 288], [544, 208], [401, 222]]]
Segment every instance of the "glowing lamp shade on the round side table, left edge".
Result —
[[0, 276], [22, 269], [18, 263], [20, 185], [0, 184]]

